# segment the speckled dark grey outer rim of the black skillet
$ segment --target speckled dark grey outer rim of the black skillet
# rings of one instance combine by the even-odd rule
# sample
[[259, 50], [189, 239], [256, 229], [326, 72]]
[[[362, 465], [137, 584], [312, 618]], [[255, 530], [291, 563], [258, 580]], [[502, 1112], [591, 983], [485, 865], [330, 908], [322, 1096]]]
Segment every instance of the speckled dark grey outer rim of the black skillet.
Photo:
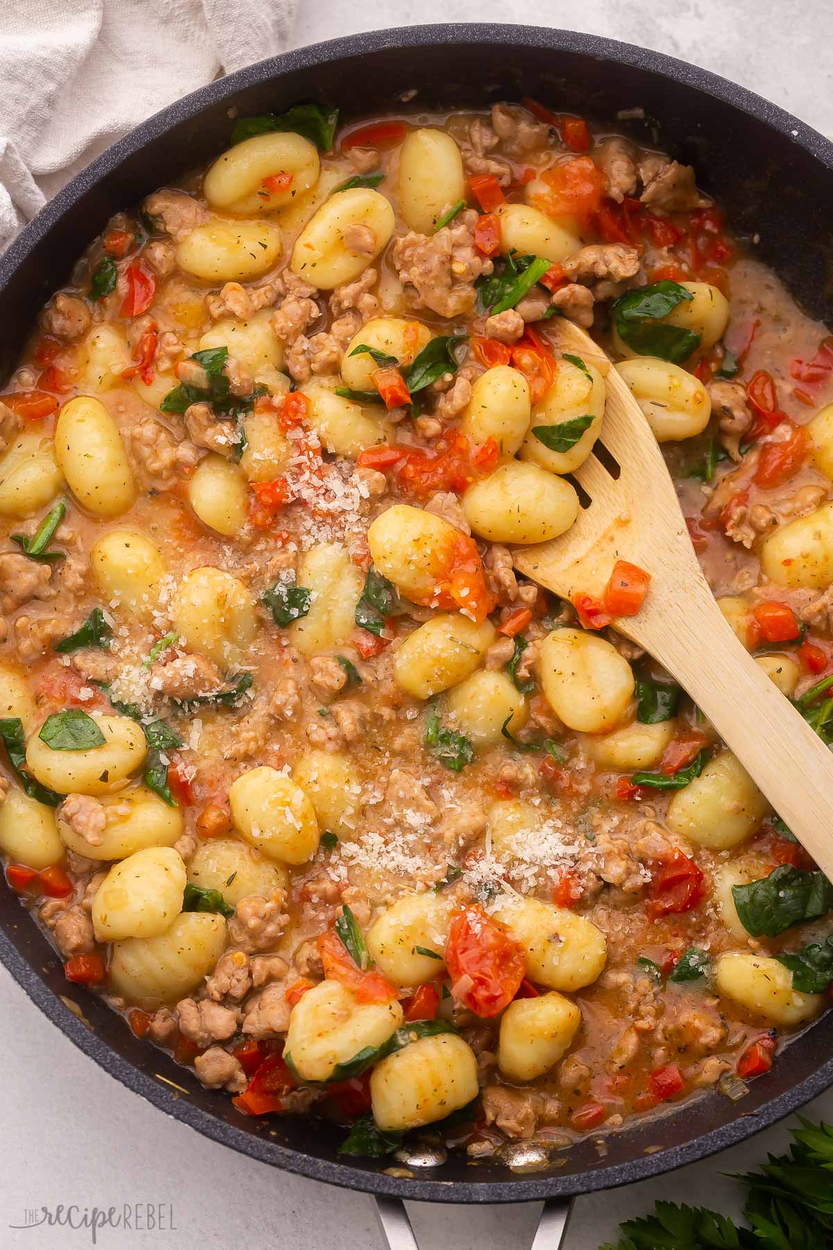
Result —
[[[119, 140], [62, 188], [37, 216], [21, 231], [0, 258], [0, 294], [11, 276], [25, 265], [34, 248], [61, 218], [70, 214], [77, 201], [119, 168], [122, 160], [147, 148], [166, 130], [181, 121], [199, 116], [204, 108], [231, 101], [252, 82], [269, 81], [283, 72], [326, 66], [341, 59], [386, 48], [431, 48], [438, 44], [498, 44], [513, 48], [546, 48], [553, 51], [578, 52], [597, 60], [622, 64], [663, 78], [669, 84], [707, 91], [729, 109], [744, 112], [782, 134], [822, 165], [833, 170], [833, 142], [812, 126], [793, 118], [763, 96], [742, 88], [708, 70], [689, 65], [662, 52], [632, 44], [574, 31], [517, 24], [468, 22], [410, 26], [365, 31], [320, 44], [310, 44], [255, 65], [227, 78], [210, 82], [154, 114], [134, 131]], [[16, 916], [11, 916], [14, 928]], [[4, 922], [5, 924], [5, 922]], [[443, 1181], [432, 1179], [390, 1176], [383, 1171], [366, 1171], [346, 1162], [331, 1161], [281, 1145], [275, 1140], [247, 1132], [220, 1119], [196, 1104], [177, 1096], [167, 1085], [141, 1071], [104, 1038], [97, 1036], [79, 1019], [14, 946], [5, 928], [0, 928], [0, 959], [27, 996], [52, 1024], [85, 1055], [95, 1060], [110, 1076], [154, 1106], [187, 1124], [202, 1136], [230, 1146], [240, 1154], [271, 1164], [285, 1171], [325, 1181], [345, 1189], [380, 1194], [390, 1198], [432, 1202], [527, 1202], [567, 1199], [658, 1176], [684, 1164], [706, 1159], [758, 1132], [791, 1111], [803, 1106], [833, 1084], [833, 1055], [797, 1085], [762, 1104], [754, 1114], [741, 1112], [729, 1124], [692, 1138], [689, 1141], [642, 1154], [621, 1164], [594, 1168], [588, 1172], [516, 1180]]]

